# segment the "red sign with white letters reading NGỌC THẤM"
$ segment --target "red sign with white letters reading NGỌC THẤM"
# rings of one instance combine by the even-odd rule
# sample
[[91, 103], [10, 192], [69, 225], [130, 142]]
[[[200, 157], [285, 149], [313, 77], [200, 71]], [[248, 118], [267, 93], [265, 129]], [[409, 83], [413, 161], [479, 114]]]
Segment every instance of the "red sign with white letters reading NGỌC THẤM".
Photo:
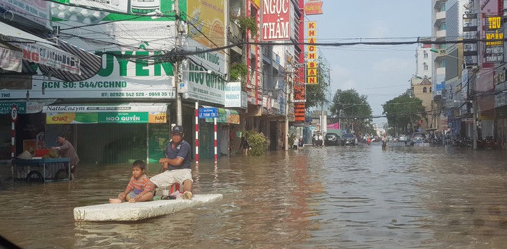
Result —
[[289, 0], [263, 0], [263, 41], [290, 40]]

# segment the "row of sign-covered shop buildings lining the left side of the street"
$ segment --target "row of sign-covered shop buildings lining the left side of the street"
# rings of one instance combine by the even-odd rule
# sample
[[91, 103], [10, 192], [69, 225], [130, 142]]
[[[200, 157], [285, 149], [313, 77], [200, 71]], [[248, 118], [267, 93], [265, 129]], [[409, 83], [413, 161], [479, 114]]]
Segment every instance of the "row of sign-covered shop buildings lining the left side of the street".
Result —
[[[15, 5], [0, 2], [6, 15], [22, 11], [15, 6], [32, 4], [30, 0], [18, 0]], [[288, 101], [293, 98], [290, 66], [301, 60], [304, 49], [297, 44], [244, 44], [261, 40], [263, 8], [272, 1], [188, 1], [176, 12], [174, 1], [103, 8], [87, 6], [90, 2], [58, 2], [44, 2], [41, 15], [47, 18], [42, 21], [25, 18], [0, 23], [27, 34], [16, 38], [1, 32], [3, 49], [13, 51], [8, 60], [23, 69], [2, 66], [0, 72], [0, 160], [11, 157], [8, 116], [13, 104], [21, 114], [16, 154], [33, 152], [32, 144], [40, 137], [49, 148], [65, 132], [82, 162], [156, 162], [163, 157], [170, 127], [176, 123], [183, 125], [185, 140], [204, 160], [213, 158], [215, 144], [219, 156], [237, 151], [243, 130], [263, 132], [271, 150], [285, 147], [289, 130], [285, 123], [294, 121], [294, 107]], [[290, 17], [286, 39], [303, 42], [299, 21], [304, 1], [283, 4]], [[251, 26], [242, 27], [239, 17], [253, 19], [256, 33]], [[35, 57], [20, 57], [24, 50], [47, 51], [30, 47], [47, 38], [53, 39], [49, 46], [56, 47], [60, 61], [38, 64]], [[12, 47], [12, 39], [28, 41], [27, 49]], [[238, 46], [219, 49], [230, 44]], [[247, 74], [232, 79], [233, 65], [238, 64], [244, 65], [240, 67]], [[31, 65], [40, 66], [33, 69]], [[217, 110], [216, 143], [213, 119], [197, 119], [196, 108]]]

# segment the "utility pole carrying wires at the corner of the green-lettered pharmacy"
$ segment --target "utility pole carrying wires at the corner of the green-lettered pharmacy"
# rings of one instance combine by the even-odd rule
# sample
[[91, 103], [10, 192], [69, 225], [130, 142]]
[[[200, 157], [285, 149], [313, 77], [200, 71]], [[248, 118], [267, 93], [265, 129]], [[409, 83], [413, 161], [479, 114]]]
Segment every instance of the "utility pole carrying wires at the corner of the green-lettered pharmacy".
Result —
[[[180, 33], [180, 8], [179, 8], [179, 0], [174, 1], [174, 25], [176, 29], [176, 36], [174, 37], [174, 51], [178, 53], [181, 51], [181, 33]], [[174, 92], [176, 93], [176, 125], [181, 126], [183, 124], [182, 115], [181, 115], [181, 94], [178, 92], [178, 87], [180, 84], [180, 74], [183, 72], [180, 70], [181, 67], [180, 55], [176, 55], [176, 60], [174, 62]]]

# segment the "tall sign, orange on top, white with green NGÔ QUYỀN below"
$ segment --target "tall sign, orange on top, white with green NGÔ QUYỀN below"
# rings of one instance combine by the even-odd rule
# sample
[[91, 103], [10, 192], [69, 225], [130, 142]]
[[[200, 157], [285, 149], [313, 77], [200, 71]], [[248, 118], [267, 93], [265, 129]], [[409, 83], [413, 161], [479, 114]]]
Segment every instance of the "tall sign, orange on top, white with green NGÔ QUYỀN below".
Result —
[[[183, 63], [183, 82], [188, 84], [184, 98], [224, 105], [226, 60], [225, 51], [206, 51], [225, 46], [225, 15], [227, 1], [188, 1], [188, 22], [186, 50], [197, 52], [190, 55], [190, 62]], [[201, 53], [199, 53], [201, 52]]]

